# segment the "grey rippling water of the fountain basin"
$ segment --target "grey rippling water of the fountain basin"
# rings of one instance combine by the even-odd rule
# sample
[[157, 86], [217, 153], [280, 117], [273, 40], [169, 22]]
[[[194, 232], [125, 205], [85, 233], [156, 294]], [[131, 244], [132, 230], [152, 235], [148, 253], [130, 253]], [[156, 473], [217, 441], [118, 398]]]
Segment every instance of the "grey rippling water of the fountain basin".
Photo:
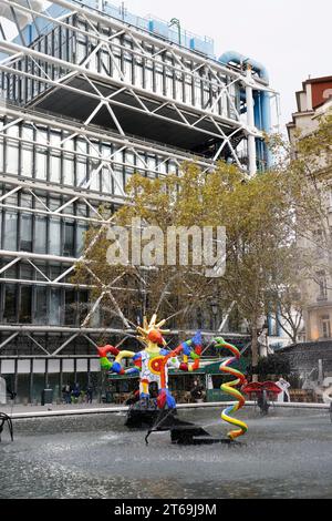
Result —
[[[220, 435], [220, 409], [179, 417]], [[240, 446], [183, 447], [169, 432], [123, 427], [123, 415], [14, 421], [0, 443], [0, 498], [331, 498], [332, 425], [328, 411], [253, 409], [238, 415]]]

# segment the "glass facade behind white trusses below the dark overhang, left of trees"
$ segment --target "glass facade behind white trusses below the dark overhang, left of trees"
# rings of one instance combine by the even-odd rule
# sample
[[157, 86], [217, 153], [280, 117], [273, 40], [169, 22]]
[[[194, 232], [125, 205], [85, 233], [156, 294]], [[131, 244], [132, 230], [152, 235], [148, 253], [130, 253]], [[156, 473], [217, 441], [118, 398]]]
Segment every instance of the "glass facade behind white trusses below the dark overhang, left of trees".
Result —
[[[45, 385], [53, 388], [54, 401], [61, 401], [64, 382], [80, 381], [84, 388], [89, 378], [97, 398], [98, 362], [91, 341], [80, 336], [61, 350], [63, 357], [85, 357], [77, 362], [40, 358], [44, 355], [41, 348], [53, 353], [71, 336], [58, 329], [80, 327], [91, 306], [87, 289], [77, 290], [71, 284], [71, 273], [59, 286], [46, 282], [56, 279], [81, 256], [84, 234], [101, 197], [108, 197], [108, 205], [115, 207], [111, 197], [123, 195], [134, 172], [155, 176], [177, 172], [178, 166], [173, 159], [165, 161], [165, 155], [134, 151], [111, 139], [84, 140], [56, 127], [13, 124], [6, 116], [0, 119], [0, 174], [7, 180], [0, 183], [0, 374], [18, 392], [19, 402], [40, 402]], [[20, 190], [15, 191], [18, 181]], [[31, 187], [24, 182], [32, 183]], [[77, 190], [84, 197], [71, 193]], [[20, 258], [20, 254], [31, 257]], [[110, 327], [110, 309], [102, 308], [91, 327]], [[7, 326], [32, 329], [11, 338]], [[50, 333], [35, 334], [34, 326], [49, 327]], [[52, 366], [50, 372], [46, 365], [55, 361], [60, 366]]]

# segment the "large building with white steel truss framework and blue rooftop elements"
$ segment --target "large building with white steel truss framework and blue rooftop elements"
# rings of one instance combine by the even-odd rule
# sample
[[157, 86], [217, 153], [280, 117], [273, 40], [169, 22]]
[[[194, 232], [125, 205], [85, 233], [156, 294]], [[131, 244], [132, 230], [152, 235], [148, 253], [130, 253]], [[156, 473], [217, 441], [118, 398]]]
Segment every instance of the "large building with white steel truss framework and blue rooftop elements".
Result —
[[86, 324], [89, 287], [71, 283], [98, 207], [122, 205], [134, 172], [195, 161], [212, 174], [218, 160], [264, 170], [274, 93], [264, 67], [216, 59], [178, 20], [0, 0], [0, 375], [34, 402], [45, 382], [60, 396], [97, 374], [101, 328], [122, 334], [102, 309]]

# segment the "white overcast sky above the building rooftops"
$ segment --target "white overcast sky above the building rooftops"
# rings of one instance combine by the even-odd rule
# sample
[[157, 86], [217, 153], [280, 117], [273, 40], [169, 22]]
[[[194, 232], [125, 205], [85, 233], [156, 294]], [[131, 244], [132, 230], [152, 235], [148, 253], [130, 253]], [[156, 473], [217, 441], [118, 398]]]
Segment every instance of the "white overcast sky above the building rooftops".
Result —
[[263, 63], [281, 95], [281, 123], [295, 111], [302, 81], [332, 75], [332, 0], [126, 0], [125, 7], [178, 18], [188, 31], [214, 38], [217, 57], [235, 50]]

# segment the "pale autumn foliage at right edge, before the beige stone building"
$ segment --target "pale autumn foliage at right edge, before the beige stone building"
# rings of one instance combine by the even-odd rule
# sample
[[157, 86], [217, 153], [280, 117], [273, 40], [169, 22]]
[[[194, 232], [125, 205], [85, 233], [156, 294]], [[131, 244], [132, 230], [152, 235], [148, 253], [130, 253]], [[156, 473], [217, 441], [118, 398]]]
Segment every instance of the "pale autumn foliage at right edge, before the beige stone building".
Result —
[[312, 132], [297, 132], [292, 145], [280, 136], [269, 136], [279, 157], [277, 170], [289, 174], [294, 192], [294, 258], [281, 265], [282, 285], [270, 294], [271, 307], [279, 311], [279, 325], [293, 343], [302, 327], [303, 310], [310, 302], [311, 287], [320, 275], [331, 273], [332, 234], [329, 208], [332, 173], [332, 112], [317, 120]]

